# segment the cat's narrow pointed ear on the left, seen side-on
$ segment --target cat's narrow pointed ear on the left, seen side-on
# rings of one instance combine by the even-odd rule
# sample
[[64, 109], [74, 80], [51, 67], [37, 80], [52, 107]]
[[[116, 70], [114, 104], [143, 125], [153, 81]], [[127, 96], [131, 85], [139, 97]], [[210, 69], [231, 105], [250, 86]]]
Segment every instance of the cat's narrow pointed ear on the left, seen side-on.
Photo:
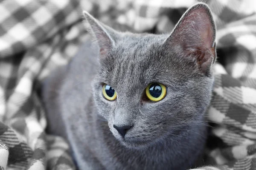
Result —
[[110, 35], [110, 33], [113, 32], [113, 29], [100, 23], [87, 11], [83, 11], [83, 14], [87, 23], [90, 25], [90, 30], [88, 31], [90, 31], [94, 40], [98, 42], [100, 57], [105, 57], [106, 54], [111, 51], [111, 48], [115, 43]]

